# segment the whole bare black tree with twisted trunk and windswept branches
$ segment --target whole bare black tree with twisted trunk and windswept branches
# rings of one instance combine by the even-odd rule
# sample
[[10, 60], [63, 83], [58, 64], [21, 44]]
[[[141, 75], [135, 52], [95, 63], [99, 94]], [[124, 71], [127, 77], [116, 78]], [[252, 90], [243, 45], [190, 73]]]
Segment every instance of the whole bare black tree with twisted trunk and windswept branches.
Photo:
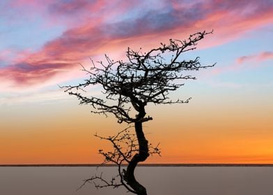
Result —
[[[197, 42], [210, 32], [194, 33], [187, 40], [169, 40], [169, 44], [163, 44], [148, 52], [127, 49], [127, 61], [113, 61], [106, 57], [106, 63], [102, 61], [84, 71], [89, 78], [75, 86], [65, 86], [65, 91], [75, 95], [80, 104], [89, 104], [91, 112], [95, 114], [113, 114], [118, 123], [127, 123], [134, 127], [131, 132], [129, 127], [118, 132], [113, 137], [96, 137], [111, 142], [114, 150], [99, 153], [104, 156], [105, 163], [112, 162], [118, 165], [118, 175], [110, 181], [104, 180], [102, 175], [93, 176], [86, 182], [95, 182], [95, 187], [119, 187], [124, 186], [129, 192], [138, 195], [147, 194], [146, 188], [137, 182], [134, 177], [134, 169], [139, 162], [144, 162], [150, 154], [160, 154], [158, 146], [151, 146], [143, 133], [142, 125], [152, 117], [146, 115], [146, 105], [153, 104], [179, 104], [187, 103], [187, 100], [171, 100], [170, 91], [176, 91], [183, 85], [179, 80], [196, 79], [188, 75], [188, 71], [208, 68], [212, 65], [201, 65], [199, 57], [193, 60], [182, 60], [179, 57], [183, 53], [196, 49]], [[86, 96], [84, 88], [88, 86], [101, 86], [103, 98]], [[135, 115], [134, 115], [135, 114]], [[130, 126], [131, 127], [131, 126]], [[121, 166], [127, 166], [121, 170]], [[119, 181], [118, 181], [119, 180]]]

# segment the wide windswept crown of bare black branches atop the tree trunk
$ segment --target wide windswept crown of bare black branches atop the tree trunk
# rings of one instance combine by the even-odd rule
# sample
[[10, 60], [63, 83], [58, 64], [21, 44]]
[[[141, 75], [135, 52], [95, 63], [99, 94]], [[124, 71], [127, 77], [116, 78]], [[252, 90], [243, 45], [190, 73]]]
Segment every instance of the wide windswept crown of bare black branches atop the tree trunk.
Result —
[[[89, 78], [82, 84], [67, 86], [66, 91], [70, 95], [76, 95], [80, 104], [90, 104], [95, 114], [114, 114], [118, 123], [152, 120], [150, 116], [130, 116], [132, 107], [141, 113], [141, 109], [148, 103], [188, 102], [190, 98], [169, 100], [169, 92], [176, 91], [183, 85], [178, 84], [178, 80], [196, 79], [187, 75], [187, 71], [212, 67], [214, 64], [201, 65], [199, 57], [187, 61], [180, 60], [179, 56], [196, 49], [197, 42], [209, 33], [212, 32], [194, 33], [187, 40], [170, 39], [169, 44], [161, 43], [160, 47], [148, 52], [142, 52], [142, 49], [134, 51], [128, 47], [127, 61], [113, 61], [109, 56], [105, 56], [107, 63], [99, 61], [95, 64], [92, 61], [93, 66], [89, 70], [84, 68]], [[169, 56], [165, 57], [166, 53]], [[102, 86], [105, 98], [86, 97], [79, 91], [92, 85]]]

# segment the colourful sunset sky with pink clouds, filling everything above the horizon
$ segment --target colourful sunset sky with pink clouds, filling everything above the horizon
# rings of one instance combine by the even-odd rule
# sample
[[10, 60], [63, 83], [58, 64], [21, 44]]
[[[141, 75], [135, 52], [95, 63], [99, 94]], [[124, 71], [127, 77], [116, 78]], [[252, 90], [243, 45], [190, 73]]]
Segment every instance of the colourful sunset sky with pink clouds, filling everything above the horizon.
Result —
[[192, 100], [147, 107], [144, 132], [162, 149], [147, 162], [273, 163], [272, 0], [1, 0], [0, 164], [102, 162], [111, 147], [93, 134], [124, 125], [59, 86], [88, 77], [79, 63], [212, 30], [182, 59], [217, 65], [171, 93]]

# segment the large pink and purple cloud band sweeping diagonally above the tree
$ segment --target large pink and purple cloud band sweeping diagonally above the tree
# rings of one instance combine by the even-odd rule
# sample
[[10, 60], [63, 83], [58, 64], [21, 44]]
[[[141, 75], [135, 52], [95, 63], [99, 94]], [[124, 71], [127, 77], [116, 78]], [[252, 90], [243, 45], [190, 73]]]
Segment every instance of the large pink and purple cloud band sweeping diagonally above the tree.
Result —
[[[33, 3], [31, 5], [34, 7], [40, 6], [35, 3], [36, 1], [17, 0], [17, 3], [22, 2]], [[60, 3], [59, 7], [54, 8], [54, 17], [73, 16], [83, 11], [93, 13], [91, 17], [93, 20], [88, 17], [79, 24], [70, 26], [62, 36], [47, 42], [38, 52], [21, 54], [12, 65], [0, 69], [1, 79], [13, 81], [13, 86], [24, 87], [53, 81], [57, 77], [63, 77], [65, 81], [72, 79], [65, 77], [65, 72], [78, 70], [76, 64], [86, 61], [89, 56], [104, 53], [110, 56], [123, 56], [128, 46], [149, 49], [157, 47], [159, 42], [167, 41], [169, 38], [186, 38], [190, 33], [204, 29], [214, 29], [215, 33], [208, 40], [205, 39], [201, 47], [212, 47], [240, 38], [247, 31], [273, 22], [272, 7], [260, 6], [258, 1], [251, 1], [244, 12], [233, 1], [224, 4], [214, 1], [210, 4], [196, 3], [185, 6], [179, 6], [178, 2], [173, 1], [173, 6], [169, 10], [146, 10], [145, 13], [143, 9], [139, 17], [114, 23], [111, 23], [111, 18], [120, 17], [123, 12], [137, 6], [135, 4], [137, 1], [132, 3], [122, 1], [123, 3], [118, 4], [120, 9], [111, 8], [105, 1], [86, 4], [87, 1], [81, 0], [81, 6], [76, 2]], [[51, 3], [54, 5], [53, 1]], [[187, 6], [192, 6], [192, 10], [185, 9]], [[256, 58], [259, 60], [272, 58], [272, 53], [260, 54]], [[246, 60], [247, 57], [238, 59], [241, 62]]]

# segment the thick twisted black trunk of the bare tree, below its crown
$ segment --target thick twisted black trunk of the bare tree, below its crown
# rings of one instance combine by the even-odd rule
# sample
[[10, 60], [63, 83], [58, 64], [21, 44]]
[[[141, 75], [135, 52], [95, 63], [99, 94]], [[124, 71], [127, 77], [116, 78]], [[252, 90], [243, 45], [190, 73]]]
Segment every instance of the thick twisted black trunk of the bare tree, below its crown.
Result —
[[143, 122], [141, 121], [134, 123], [137, 139], [139, 142], [139, 153], [132, 157], [132, 160], [128, 164], [126, 171], [126, 182], [128, 185], [130, 185], [130, 187], [132, 187], [132, 189], [134, 189], [135, 192], [137, 192], [137, 195], [147, 195], [146, 188], [137, 182], [136, 178], [134, 178], [134, 169], [137, 167], [137, 164], [139, 162], [145, 161], [149, 156], [148, 141], [144, 136], [142, 123]]

